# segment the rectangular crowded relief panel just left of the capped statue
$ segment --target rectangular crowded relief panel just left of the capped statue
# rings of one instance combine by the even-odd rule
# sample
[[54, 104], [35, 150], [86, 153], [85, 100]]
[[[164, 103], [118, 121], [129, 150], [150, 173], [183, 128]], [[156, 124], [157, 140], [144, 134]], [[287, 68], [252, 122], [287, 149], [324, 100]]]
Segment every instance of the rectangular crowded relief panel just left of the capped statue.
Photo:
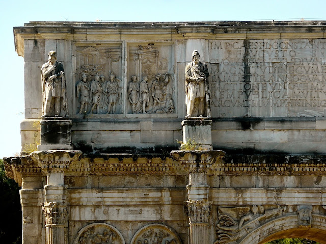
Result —
[[129, 48], [127, 113], [175, 113], [174, 45]]

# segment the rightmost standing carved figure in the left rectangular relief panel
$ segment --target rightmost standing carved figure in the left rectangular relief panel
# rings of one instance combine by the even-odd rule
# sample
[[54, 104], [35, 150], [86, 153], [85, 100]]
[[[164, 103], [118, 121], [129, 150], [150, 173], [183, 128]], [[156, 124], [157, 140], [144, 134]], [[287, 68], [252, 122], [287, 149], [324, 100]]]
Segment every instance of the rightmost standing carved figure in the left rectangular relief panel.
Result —
[[111, 72], [110, 80], [106, 83], [105, 92], [107, 94], [107, 113], [116, 113], [116, 104], [121, 100], [121, 87], [119, 86], [118, 78]]

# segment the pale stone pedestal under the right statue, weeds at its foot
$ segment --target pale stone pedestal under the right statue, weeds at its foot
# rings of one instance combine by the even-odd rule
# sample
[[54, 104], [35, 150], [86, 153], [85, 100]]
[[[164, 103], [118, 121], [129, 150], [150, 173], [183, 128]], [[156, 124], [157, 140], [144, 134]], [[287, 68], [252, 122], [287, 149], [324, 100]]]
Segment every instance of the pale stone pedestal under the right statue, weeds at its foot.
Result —
[[201, 117], [183, 120], [183, 144], [181, 150], [211, 150], [212, 120]]

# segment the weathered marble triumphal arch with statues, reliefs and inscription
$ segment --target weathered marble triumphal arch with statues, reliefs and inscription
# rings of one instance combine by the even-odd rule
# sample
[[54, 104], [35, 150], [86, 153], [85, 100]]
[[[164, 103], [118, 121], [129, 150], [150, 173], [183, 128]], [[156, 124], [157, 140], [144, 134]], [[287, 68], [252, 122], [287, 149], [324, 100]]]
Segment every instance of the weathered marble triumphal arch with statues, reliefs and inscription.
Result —
[[326, 243], [326, 22], [30, 22], [23, 243]]

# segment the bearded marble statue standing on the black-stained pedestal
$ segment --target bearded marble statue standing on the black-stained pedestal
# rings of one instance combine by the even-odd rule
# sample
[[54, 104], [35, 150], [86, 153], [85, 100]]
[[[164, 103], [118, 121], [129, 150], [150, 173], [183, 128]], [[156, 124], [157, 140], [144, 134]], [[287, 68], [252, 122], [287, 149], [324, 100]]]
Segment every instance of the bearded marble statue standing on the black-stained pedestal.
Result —
[[63, 65], [57, 61], [57, 52], [49, 51], [48, 62], [42, 65], [42, 117], [68, 117], [66, 81]]

